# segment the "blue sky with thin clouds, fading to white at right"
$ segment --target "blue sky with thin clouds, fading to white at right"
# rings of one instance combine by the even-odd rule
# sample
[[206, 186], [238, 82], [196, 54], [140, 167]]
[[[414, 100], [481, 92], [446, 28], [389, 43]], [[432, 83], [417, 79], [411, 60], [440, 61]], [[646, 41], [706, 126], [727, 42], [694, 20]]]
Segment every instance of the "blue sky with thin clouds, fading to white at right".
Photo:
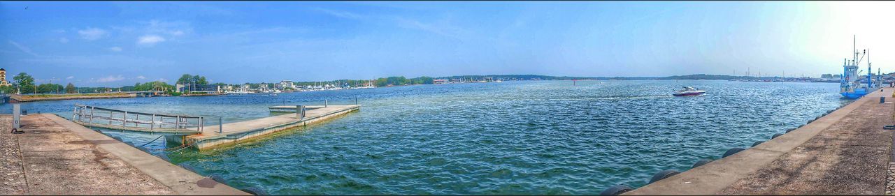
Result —
[[[27, 7], [27, 9], [26, 9]], [[123, 86], [477, 74], [818, 77], [852, 35], [895, 71], [891, 2], [0, 2], [0, 67]], [[875, 71], [875, 70], [874, 70]], [[62, 81], [62, 82], [58, 82]]]

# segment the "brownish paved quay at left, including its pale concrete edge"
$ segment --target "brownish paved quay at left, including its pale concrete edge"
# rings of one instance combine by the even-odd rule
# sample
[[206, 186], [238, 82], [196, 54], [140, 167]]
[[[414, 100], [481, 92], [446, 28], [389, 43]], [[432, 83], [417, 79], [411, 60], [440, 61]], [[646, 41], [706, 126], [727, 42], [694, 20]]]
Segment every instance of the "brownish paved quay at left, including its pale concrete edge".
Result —
[[52, 114], [21, 122], [24, 134], [0, 133], [4, 194], [248, 194]]

